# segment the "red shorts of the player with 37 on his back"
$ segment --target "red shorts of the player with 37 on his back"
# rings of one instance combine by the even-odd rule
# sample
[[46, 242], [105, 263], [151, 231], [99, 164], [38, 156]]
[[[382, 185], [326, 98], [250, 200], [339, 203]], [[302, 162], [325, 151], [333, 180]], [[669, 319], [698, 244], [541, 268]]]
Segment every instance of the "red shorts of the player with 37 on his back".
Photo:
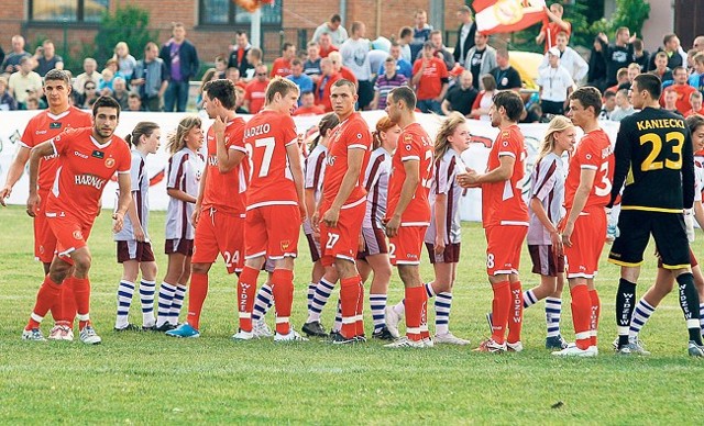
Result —
[[277, 260], [298, 256], [298, 205], [264, 205], [246, 212], [244, 258], [266, 255]]

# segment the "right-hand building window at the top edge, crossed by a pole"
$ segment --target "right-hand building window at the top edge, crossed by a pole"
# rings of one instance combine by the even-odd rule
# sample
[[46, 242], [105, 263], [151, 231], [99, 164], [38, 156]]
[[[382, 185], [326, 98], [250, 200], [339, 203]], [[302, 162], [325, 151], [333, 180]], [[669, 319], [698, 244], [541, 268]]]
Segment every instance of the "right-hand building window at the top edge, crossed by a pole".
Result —
[[[252, 14], [232, 0], [199, 0], [199, 22], [201, 25], [249, 24]], [[273, 4], [262, 4], [262, 25], [280, 26], [283, 0]]]

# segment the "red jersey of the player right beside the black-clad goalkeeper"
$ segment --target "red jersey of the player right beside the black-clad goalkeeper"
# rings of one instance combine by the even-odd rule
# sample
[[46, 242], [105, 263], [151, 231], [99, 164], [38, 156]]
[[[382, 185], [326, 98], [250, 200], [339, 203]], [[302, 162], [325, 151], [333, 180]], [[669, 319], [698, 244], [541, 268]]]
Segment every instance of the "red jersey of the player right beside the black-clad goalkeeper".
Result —
[[564, 182], [564, 208], [570, 211], [574, 203], [574, 193], [580, 186], [582, 169], [596, 171], [594, 184], [586, 199], [584, 209], [606, 206], [612, 197], [614, 181], [614, 147], [608, 135], [597, 128], [584, 135], [570, 158], [568, 179]]

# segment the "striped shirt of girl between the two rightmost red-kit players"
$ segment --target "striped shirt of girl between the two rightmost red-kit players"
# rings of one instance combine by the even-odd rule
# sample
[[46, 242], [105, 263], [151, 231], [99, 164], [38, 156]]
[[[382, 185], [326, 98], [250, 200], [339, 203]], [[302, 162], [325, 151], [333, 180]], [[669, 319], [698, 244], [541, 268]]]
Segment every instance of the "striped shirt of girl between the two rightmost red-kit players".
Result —
[[[530, 197], [540, 200], [548, 218], [557, 225], [565, 215], [564, 180], [566, 168], [562, 158], [554, 153], [549, 153], [536, 164], [530, 175]], [[528, 227], [528, 245], [551, 245], [550, 233], [542, 226], [536, 213], [528, 203], [530, 225]]]

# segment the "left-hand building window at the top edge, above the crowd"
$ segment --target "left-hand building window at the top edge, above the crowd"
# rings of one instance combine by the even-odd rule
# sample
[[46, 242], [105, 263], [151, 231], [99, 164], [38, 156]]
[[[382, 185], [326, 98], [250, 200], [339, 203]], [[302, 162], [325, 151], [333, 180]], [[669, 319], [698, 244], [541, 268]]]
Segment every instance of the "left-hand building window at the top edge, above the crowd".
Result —
[[30, 21], [100, 22], [110, 0], [30, 0]]

